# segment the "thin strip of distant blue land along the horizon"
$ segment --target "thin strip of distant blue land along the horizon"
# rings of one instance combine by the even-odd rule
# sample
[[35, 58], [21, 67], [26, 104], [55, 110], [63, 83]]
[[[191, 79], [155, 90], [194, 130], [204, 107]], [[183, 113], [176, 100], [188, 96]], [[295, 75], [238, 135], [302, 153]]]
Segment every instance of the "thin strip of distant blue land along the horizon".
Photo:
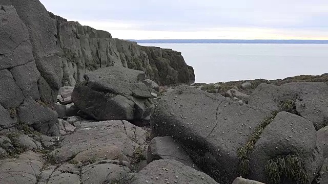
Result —
[[328, 44], [328, 40], [240, 40], [240, 39], [128, 39], [137, 43], [275, 43], [275, 44]]

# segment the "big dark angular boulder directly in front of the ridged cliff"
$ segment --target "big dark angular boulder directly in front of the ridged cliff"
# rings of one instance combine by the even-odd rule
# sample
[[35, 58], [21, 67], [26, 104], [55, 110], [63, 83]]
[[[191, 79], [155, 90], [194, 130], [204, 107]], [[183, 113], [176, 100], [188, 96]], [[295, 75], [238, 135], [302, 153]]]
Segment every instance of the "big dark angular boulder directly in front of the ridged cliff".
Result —
[[110, 66], [85, 75], [73, 90], [74, 104], [96, 120], [140, 121], [150, 114], [145, 73]]

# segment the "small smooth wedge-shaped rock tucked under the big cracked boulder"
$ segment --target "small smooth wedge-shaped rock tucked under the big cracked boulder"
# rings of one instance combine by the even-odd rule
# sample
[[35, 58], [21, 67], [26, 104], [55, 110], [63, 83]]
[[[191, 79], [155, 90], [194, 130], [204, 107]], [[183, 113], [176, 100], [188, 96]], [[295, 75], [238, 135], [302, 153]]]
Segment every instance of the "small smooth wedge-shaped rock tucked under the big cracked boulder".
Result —
[[174, 159], [186, 166], [197, 169], [191, 157], [170, 136], [155, 137], [149, 143], [148, 164], [158, 159]]

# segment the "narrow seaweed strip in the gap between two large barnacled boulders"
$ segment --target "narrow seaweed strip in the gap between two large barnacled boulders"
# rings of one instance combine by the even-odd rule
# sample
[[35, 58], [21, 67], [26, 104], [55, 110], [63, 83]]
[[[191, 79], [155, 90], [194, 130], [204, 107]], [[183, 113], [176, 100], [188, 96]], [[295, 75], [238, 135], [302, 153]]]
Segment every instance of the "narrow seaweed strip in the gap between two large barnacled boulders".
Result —
[[246, 176], [249, 174], [249, 163], [248, 153], [254, 149], [255, 143], [260, 139], [261, 133], [264, 128], [267, 127], [273, 119], [276, 117], [278, 111], [272, 111], [270, 116], [265, 117], [265, 119], [256, 127], [255, 131], [251, 134], [248, 141], [238, 149], [239, 170], [242, 175]]

